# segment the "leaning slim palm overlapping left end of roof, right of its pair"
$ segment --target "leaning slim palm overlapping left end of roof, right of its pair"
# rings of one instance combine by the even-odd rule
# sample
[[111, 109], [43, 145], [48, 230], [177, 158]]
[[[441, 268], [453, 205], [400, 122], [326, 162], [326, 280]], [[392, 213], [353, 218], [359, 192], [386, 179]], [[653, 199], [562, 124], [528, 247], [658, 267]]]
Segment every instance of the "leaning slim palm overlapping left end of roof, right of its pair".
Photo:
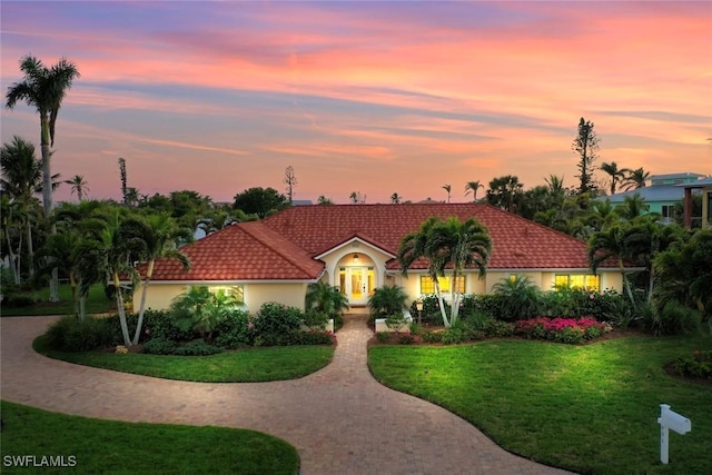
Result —
[[156, 259], [172, 258], [178, 259], [184, 270], [190, 268], [188, 257], [177, 249], [176, 241], [185, 236], [176, 225], [176, 221], [167, 214], [149, 215], [144, 218], [146, 227], [144, 228], [142, 240], [146, 243], [146, 257], [148, 258], [148, 267], [146, 277], [141, 283], [141, 304], [138, 310], [138, 324], [136, 325], [136, 334], [134, 335], [134, 345], [138, 345], [144, 325], [144, 314], [146, 313], [146, 296], [148, 295], [148, 286], [154, 276], [154, 267]]

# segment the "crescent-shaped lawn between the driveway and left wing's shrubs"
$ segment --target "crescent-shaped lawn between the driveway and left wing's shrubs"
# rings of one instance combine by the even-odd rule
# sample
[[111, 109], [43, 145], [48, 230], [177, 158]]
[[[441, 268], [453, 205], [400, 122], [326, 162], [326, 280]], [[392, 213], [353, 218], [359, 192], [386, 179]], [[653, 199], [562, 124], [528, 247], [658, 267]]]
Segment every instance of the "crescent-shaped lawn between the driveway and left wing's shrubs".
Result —
[[47, 348], [44, 337], [33, 347], [38, 353], [97, 368], [166, 379], [202, 383], [259, 383], [296, 379], [332, 362], [333, 346], [280, 346], [249, 348], [211, 356], [145, 355], [129, 353], [63, 353]]

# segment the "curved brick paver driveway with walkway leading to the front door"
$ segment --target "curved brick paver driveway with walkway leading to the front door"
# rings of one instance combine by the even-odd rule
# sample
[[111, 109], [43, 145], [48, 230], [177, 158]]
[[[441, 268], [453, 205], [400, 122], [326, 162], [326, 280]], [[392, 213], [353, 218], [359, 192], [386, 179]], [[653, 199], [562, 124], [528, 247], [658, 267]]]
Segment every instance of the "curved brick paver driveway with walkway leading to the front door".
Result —
[[243, 427], [280, 437], [303, 474], [563, 474], [496, 446], [449, 412], [368, 373], [365, 317], [348, 317], [327, 367], [277, 383], [206, 384], [77, 366], [31, 348], [52, 317], [0, 319], [1, 396], [106, 419]]

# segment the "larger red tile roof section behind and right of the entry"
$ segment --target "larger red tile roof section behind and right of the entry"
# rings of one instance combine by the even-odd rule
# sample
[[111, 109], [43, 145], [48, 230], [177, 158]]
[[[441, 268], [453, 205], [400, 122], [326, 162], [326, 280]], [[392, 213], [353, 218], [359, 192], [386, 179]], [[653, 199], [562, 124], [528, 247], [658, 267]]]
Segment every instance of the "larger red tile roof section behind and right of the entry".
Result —
[[[479, 220], [493, 241], [488, 269], [585, 269], [587, 246], [571, 236], [490, 205], [314, 205], [285, 209], [265, 219], [276, 234], [304, 248], [310, 256], [323, 254], [354, 236], [367, 236], [383, 250], [397, 255], [400, 239], [417, 231], [427, 218], [451, 216]], [[413, 268], [424, 268], [421, 260]], [[603, 268], [612, 267], [606, 263]], [[397, 261], [388, 263], [397, 269]]]

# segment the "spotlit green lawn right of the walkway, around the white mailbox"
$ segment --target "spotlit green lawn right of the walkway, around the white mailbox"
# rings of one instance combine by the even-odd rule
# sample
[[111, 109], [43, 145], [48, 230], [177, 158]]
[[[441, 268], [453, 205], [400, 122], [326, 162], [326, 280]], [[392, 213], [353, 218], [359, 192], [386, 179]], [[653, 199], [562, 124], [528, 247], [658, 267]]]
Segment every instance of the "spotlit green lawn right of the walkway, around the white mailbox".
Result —
[[[507, 451], [592, 474], [712, 473], [712, 386], [665, 363], [712, 338], [620, 338], [586, 346], [497, 340], [449, 347], [374, 346], [374, 376], [452, 410]], [[660, 404], [692, 420], [660, 463]]]

